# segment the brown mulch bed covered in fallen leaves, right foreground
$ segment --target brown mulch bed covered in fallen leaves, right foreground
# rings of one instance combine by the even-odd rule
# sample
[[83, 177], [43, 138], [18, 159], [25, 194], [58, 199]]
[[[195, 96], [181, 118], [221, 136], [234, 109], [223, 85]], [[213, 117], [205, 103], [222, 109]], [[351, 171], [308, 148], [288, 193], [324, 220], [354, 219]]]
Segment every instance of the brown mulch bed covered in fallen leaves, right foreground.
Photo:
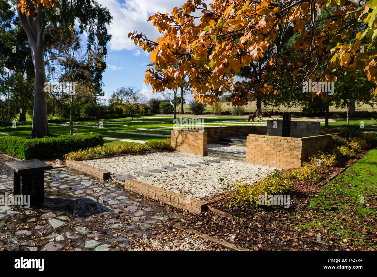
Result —
[[[375, 147], [375, 145], [373, 145]], [[329, 179], [334, 173], [339, 173], [349, 167], [353, 162], [362, 158], [368, 150], [358, 153], [352, 159], [340, 159], [337, 167], [329, 168], [328, 172], [322, 175], [322, 182], [313, 184], [310, 182], [294, 181], [293, 197], [290, 197], [290, 208], [260, 208], [237, 209], [229, 207], [229, 193], [221, 195], [222, 199], [211, 203], [210, 207], [230, 214], [233, 218], [219, 215], [208, 211], [199, 216], [186, 215], [182, 224], [189, 228], [201, 231], [202, 233], [224, 239], [236, 245], [254, 251], [339, 251], [340, 245], [334, 243], [336, 237], [326, 236], [325, 228], [314, 228], [305, 230], [298, 225], [300, 222], [313, 222], [328, 214], [315, 212], [308, 209], [310, 198], [316, 195], [325, 184], [323, 180]], [[334, 207], [337, 210], [337, 207]], [[297, 226], [298, 225], [298, 226]], [[362, 227], [357, 227], [362, 231]], [[322, 234], [321, 240], [317, 241], [318, 234]], [[324, 240], [329, 238], [329, 242]], [[352, 243], [345, 243], [343, 250], [371, 250], [374, 246], [360, 246]]]

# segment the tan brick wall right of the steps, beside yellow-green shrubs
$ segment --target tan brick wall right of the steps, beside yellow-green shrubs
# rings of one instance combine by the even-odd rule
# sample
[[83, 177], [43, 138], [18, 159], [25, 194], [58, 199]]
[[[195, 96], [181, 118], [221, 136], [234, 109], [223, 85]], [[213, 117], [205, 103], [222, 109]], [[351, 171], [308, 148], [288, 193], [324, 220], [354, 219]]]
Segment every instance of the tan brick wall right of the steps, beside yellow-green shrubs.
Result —
[[279, 168], [297, 168], [331, 143], [331, 135], [289, 138], [252, 135], [247, 137], [246, 163]]

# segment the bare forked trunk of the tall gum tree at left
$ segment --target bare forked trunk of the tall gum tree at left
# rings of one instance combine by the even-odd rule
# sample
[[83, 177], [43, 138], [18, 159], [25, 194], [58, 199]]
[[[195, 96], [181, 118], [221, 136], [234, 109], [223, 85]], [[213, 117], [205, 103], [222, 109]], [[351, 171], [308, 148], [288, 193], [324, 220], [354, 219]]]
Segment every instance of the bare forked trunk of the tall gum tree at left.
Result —
[[26, 16], [20, 9], [17, 9], [17, 12], [26, 35], [28, 35], [35, 71], [31, 137], [43, 138], [50, 135], [47, 118], [47, 93], [44, 91], [46, 82], [46, 73], [44, 70], [44, 14], [41, 4], [37, 5], [38, 14], [36, 18], [32, 15]]

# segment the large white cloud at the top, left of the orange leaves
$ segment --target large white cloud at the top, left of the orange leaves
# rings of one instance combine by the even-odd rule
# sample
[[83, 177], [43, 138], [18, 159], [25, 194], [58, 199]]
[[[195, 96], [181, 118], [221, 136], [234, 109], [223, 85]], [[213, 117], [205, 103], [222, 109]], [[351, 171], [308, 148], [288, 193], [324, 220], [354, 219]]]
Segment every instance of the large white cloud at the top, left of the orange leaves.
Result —
[[135, 30], [143, 32], [152, 40], [161, 37], [152, 22], [147, 22], [149, 16], [155, 12], [171, 13], [174, 7], [179, 7], [185, 2], [186, 0], [126, 0], [125, 2], [98, 0], [98, 3], [108, 8], [113, 16], [112, 24], [108, 26], [108, 31], [113, 36], [109, 43], [110, 49], [115, 51], [139, 49], [139, 46], [128, 38], [128, 33]]

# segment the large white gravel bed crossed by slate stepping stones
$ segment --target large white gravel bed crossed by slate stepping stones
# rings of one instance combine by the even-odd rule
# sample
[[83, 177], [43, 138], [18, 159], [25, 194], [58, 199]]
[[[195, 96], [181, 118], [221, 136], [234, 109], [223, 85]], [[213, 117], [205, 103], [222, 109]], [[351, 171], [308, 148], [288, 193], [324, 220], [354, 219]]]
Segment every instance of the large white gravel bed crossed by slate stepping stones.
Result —
[[148, 173], [152, 169], [162, 169], [164, 166], [195, 164], [211, 157], [186, 154], [181, 152], [159, 152], [146, 155], [126, 155], [121, 157], [93, 159], [83, 161], [85, 164], [109, 170], [111, 173], [131, 174], [140, 182], [164, 188], [175, 193], [181, 193], [196, 199], [213, 198], [228, 191], [226, 184], [219, 183], [218, 178], [225, 182], [244, 181], [252, 184], [267, 174], [273, 172], [273, 167], [245, 164], [245, 162], [230, 160], [208, 165], [177, 168], [162, 173], [152, 173], [153, 176], [143, 177], [136, 171]]

